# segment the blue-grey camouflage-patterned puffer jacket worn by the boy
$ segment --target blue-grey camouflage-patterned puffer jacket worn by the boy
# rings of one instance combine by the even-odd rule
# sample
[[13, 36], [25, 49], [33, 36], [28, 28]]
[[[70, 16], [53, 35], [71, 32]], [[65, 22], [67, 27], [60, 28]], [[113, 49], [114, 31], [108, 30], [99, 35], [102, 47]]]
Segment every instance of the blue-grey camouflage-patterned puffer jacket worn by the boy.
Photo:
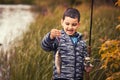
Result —
[[[84, 71], [84, 58], [87, 54], [87, 47], [85, 42], [82, 40], [80, 33], [75, 33], [77, 37], [77, 43], [74, 44], [63, 30], [61, 36], [58, 39], [50, 39], [50, 33], [43, 38], [41, 47], [46, 51], [54, 51], [54, 55], [57, 49], [60, 49], [61, 55], [61, 74], [57, 74], [56, 66], [53, 66], [53, 79], [65, 78], [68, 80], [79, 80], [83, 78]], [[55, 59], [55, 56], [54, 56]]]

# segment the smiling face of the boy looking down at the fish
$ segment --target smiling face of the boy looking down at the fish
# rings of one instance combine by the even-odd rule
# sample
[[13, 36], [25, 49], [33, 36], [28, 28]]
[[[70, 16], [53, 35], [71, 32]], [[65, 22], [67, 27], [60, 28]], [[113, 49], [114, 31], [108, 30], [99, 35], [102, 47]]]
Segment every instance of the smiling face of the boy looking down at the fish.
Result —
[[77, 31], [80, 23], [78, 22], [78, 18], [66, 16], [64, 20], [61, 20], [61, 24], [67, 35], [73, 35]]

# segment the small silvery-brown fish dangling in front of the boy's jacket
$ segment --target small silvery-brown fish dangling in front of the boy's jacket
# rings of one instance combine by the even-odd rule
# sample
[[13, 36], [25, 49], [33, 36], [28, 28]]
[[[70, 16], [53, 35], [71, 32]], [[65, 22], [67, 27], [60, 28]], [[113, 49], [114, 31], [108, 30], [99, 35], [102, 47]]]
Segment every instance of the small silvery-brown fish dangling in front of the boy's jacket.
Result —
[[59, 53], [60, 50], [58, 50], [55, 54], [55, 66], [57, 68], [57, 73], [60, 75], [61, 73], [61, 55]]

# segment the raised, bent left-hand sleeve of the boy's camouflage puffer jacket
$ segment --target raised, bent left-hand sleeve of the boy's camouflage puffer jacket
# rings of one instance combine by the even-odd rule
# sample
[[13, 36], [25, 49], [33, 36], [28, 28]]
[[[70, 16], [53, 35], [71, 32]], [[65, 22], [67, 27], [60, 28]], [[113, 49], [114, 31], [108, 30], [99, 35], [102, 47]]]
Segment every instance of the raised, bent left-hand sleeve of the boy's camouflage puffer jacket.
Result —
[[55, 39], [50, 39], [50, 32], [47, 33], [41, 41], [41, 48], [45, 51], [55, 50]]

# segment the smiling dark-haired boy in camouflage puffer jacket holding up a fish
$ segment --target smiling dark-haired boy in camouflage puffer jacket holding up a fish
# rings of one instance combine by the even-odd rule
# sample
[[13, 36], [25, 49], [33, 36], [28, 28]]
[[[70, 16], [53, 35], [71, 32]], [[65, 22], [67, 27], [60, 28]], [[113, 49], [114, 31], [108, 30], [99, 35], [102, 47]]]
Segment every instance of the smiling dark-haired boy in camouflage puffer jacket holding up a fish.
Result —
[[79, 11], [68, 8], [61, 19], [63, 30], [52, 29], [42, 40], [44, 50], [54, 51], [53, 80], [83, 80], [84, 58], [88, 54], [82, 35], [77, 32], [79, 22]]

